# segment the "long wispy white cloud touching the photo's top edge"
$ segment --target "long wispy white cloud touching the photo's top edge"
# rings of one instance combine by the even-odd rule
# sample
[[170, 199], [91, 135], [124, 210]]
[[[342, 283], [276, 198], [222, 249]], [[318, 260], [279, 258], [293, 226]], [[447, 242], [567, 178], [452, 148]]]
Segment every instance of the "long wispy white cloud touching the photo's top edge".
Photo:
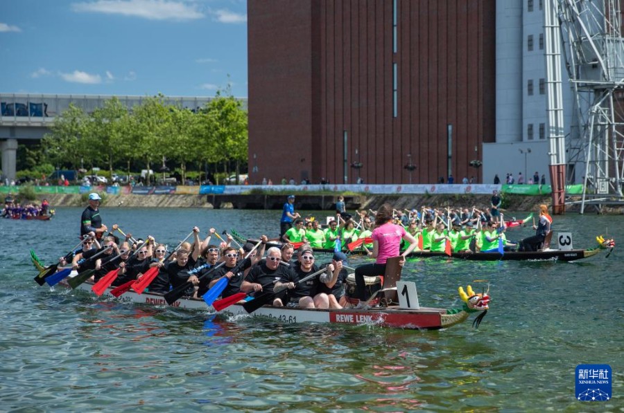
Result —
[[168, 0], [96, 0], [73, 3], [75, 12], [141, 17], [148, 20], [193, 20], [204, 17], [197, 6], [184, 1]]

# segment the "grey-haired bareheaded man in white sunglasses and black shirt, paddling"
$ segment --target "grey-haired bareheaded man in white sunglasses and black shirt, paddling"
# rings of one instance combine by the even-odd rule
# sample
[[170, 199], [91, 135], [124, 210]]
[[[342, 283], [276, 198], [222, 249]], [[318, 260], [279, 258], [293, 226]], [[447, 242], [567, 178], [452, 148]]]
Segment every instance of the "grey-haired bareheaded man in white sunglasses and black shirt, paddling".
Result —
[[[266, 261], [262, 261], [261, 264], [252, 267], [241, 284], [241, 291], [254, 294], [261, 291], [272, 293], [275, 282], [293, 283], [292, 286], [294, 287], [294, 283], [297, 282], [297, 276], [293, 273], [290, 266], [279, 265], [279, 261], [281, 261], [279, 248], [269, 248]], [[285, 297], [286, 291], [277, 293], [272, 304], [274, 306], [284, 306]]]

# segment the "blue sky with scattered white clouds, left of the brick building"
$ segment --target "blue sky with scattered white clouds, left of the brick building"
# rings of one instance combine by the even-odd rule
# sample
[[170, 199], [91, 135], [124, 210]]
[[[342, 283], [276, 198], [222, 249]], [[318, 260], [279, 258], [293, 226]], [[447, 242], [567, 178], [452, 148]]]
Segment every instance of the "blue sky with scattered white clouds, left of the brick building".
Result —
[[247, 2], [0, 0], [0, 62], [3, 93], [246, 97]]

